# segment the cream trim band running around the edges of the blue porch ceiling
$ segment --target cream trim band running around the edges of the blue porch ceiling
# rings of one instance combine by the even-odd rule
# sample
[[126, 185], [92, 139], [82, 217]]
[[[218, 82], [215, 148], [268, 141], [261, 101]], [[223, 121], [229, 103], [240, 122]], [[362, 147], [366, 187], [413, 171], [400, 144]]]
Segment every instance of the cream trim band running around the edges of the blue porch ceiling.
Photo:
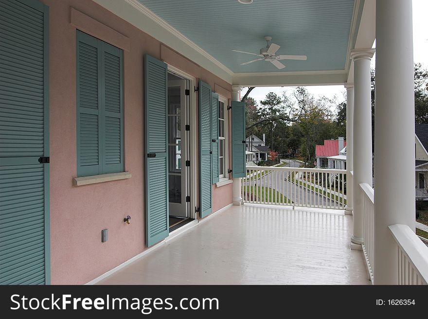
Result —
[[[210, 53], [201, 49], [189, 38], [181, 34], [164, 19], [160, 18], [138, 0], [93, 0], [113, 14], [123, 18], [138, 29], [153, 36], [161, 43], [174, 48], [178, 53], [192, 60], [204, 69], [214, 73], [226, 82], [240, 86], [296, 86], [296, 85], [341, 85], [349, 82], [349, 70], [352, 70], [350, 51], [357, 48], [359, 34], [371, 34], [372, 24], [363, 21], [371, 19], [370, 8], [375, 0], [355, 0], [348, 40], [345, 70], [302, 71], [302, 72], [261, 72], [233, 73]], [[364, 17], [364, 16], [368, 17]], [[374, 30], [373, 30], [374, 33]], [[361, 42], [361, 41], [360, 41]], [[373, 43], [373, 42], [372, 42]], [[365, 46], [367, 47], [367, 46]]]

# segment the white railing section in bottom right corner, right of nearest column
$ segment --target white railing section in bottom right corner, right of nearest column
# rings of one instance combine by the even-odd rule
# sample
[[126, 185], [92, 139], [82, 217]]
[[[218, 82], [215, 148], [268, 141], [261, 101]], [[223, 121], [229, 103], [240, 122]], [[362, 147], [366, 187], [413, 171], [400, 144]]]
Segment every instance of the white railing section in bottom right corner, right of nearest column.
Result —
[[407, 225], [389, 226], [397, 243], [398, 284], [427, 284], [428, 247]]

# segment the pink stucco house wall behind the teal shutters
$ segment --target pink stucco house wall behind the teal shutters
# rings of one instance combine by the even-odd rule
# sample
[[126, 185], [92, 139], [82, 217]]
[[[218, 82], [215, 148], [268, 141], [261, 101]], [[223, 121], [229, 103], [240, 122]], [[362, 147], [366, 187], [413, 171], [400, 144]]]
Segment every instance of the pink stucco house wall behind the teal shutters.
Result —
[[[227, 92], [231, 85], [89, 0], [41, 0], [50, 7], [50, 204], [52, 284], [85, 284], [145, 247], [143, 56], [148, 53]], [[125, 35], [125, 170], [132, 178], [72, 186], [76, 177], [76, 29], [70, 8]], [[89, 24], [89, 27], [95, 24]], [[105, 28], [95, 30], [108, 42]], [[114, 41], [114, 39], [112, 39]], [[173, 49], [173, 48], [172, 48]], [[226, 96], [231, 98], [231, 96]], [[232, 202], [232, 184], [213, 186], [214, 211]], [[131, 225], [123, 219], [131, 215]], [[101, 243], [101, 230], [108, 241]]]

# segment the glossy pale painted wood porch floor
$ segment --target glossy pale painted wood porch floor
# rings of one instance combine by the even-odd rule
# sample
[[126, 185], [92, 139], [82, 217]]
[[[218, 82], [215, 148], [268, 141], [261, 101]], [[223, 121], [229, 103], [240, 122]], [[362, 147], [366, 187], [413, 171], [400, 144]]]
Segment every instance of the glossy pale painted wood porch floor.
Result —
[[343, 212], [232, 206], [98, 284], [370, 284]]

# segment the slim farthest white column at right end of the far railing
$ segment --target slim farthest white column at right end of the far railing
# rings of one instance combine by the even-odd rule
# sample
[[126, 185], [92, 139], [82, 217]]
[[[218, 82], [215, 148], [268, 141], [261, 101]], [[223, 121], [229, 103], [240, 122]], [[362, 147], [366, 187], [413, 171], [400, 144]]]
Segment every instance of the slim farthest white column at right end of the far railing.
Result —
[[345, 214], [352, 215], [354, 170], [354, 83], [345, 84], [346, 89], [346, 206]]

